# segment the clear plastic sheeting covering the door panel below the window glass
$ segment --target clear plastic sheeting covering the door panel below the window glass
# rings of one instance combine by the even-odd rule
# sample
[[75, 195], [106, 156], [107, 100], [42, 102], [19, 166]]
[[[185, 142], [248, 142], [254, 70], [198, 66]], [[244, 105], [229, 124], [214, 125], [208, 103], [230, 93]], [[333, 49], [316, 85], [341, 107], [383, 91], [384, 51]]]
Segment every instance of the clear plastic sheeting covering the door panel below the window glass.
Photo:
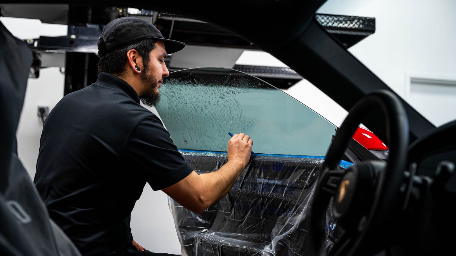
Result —
[[[226, 153], [180, 152], [199, 174], [227, 162]], [[201, 215], [169, 198], [182, 255], [308, 255], [309, 202], [323, 161], [254, 154], [228, 194]], [[331, 215], [327, 225], [329, 249], [336, 227]]]

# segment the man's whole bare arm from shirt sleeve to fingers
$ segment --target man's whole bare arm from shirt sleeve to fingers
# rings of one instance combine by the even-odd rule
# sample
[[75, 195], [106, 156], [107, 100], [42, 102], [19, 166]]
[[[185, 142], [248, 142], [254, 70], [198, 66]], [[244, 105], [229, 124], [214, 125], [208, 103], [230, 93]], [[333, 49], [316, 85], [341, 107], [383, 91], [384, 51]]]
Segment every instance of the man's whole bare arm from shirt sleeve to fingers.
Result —
[[162, 190], [188, 210], [202, 213], [233, 187], [249, 162], [252, 144], [249, 135], [234, 134], [228, 141], [228, 162], [220, 169], [201, 175], [193, 171], [181, 181]]

